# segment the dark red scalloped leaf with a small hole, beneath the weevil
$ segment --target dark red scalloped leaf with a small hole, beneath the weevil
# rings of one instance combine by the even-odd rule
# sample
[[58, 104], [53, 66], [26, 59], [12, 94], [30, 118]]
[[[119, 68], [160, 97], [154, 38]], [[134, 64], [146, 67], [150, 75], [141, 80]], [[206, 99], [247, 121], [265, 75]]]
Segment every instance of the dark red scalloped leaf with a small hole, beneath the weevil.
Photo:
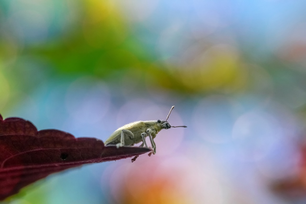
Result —
[[151, 151], [104, 146], [96, 138], [75, 138], [60, 130], [40, 130], [27, 120], [0, 115], [0, 200], [51, 173]]

